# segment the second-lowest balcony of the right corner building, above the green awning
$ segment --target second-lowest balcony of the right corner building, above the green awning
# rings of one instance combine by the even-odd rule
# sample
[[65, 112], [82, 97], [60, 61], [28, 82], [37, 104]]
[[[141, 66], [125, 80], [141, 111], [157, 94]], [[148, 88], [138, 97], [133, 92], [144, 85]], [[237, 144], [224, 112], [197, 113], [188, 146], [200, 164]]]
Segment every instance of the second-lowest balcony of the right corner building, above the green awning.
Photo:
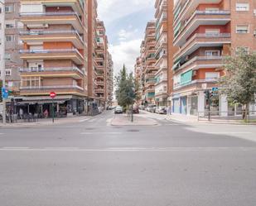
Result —
[[204, 69], [204, 68], [222, 68], [223, 56], [196, 56], [188, 60], [183, 65], [175, 64], [173, 70], [175, 73], [181, 73], [188, 69]]

